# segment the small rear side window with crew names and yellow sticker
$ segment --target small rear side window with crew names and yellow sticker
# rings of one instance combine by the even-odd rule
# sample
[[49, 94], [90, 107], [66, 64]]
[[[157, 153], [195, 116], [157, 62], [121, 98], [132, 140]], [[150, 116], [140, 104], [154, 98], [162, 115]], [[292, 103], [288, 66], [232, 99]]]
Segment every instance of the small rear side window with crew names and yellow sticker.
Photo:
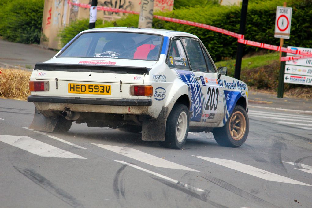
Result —
[[172, 41], [167, 65], [170, 68], [189, 70], [188, 60], [180, 40]]

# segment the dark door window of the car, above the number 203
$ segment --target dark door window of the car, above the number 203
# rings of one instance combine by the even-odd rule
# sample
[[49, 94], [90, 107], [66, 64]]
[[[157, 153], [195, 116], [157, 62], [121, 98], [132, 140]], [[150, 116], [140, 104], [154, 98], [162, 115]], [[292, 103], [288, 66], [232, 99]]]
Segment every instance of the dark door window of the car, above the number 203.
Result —
[[182, 41], [188, 53], [192, 71], [207, 72], [206, 60], [200, 43], [197, 40], [189, 38], [182, 38]]

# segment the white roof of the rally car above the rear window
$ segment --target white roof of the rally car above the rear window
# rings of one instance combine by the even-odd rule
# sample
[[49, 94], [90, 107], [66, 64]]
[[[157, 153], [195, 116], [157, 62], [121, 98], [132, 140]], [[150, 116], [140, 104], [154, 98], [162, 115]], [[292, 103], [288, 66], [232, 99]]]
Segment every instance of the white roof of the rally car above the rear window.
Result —
[[114, 31], [114, 32], [138, 32], [138, 33], [148, 33], [154, 35], [162, 35], [164, 37], [175, 37], [175, 36], [188, 36], [193, 38], [198, 38], [197, 36], [181, 31], [173, 31], [173, 30], [163, 30], [163, 29], [153, 29], [153, 28], [136, 28], [136, 27], [103, 27], [103, 28], [95, 28], [82, 31], [84, 32], [100, 32], [100, 31]]

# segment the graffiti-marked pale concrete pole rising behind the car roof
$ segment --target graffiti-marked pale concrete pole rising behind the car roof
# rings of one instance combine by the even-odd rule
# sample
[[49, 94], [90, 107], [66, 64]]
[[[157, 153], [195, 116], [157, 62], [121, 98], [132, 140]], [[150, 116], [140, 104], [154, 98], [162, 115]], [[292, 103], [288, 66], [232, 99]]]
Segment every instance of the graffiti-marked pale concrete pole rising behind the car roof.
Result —
[[141, 0], [139, 27], [152, 28], [154, 0]]

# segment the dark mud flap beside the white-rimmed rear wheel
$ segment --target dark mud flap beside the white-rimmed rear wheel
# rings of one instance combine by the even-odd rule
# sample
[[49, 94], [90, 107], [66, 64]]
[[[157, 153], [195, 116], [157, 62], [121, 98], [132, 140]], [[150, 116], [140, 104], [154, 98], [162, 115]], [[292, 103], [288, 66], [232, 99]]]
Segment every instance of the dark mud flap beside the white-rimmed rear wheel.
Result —
[[163, 107], [157, 119], [144, 119], [142, 125], [142, 140], [165, 141], [167, 116], [168, 108]]

